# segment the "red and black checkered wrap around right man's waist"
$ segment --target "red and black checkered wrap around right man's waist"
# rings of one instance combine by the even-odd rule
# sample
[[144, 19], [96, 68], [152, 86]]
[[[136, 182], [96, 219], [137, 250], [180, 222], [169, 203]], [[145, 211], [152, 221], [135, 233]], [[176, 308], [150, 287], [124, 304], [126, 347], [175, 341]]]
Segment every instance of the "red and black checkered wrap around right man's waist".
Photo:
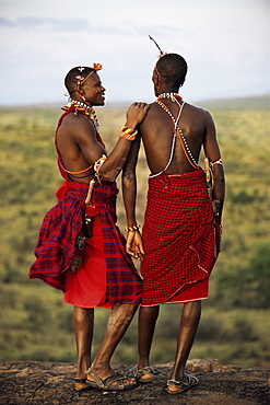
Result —
[[177, 291], [210, 276], [220, 252], [220, 227], [214, 227], [213, 217], [200, 167], [149, 178], [142, 305], [166, 303]]

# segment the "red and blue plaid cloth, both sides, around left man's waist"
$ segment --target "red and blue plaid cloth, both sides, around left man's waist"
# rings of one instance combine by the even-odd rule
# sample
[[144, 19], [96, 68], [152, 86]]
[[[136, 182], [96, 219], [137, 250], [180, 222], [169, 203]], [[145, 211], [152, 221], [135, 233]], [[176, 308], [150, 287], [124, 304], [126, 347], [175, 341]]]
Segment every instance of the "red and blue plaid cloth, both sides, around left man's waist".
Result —
[[[82, 227], [87, 188], [87, 184], [66, 181], [57, 192], [60, 200], [47, 212], [43, 221], [35, 250], [37, 258], [30, 269], [30, 278], [40, 278], [51, 287], [64, 291], [64, 271], [69, 269], [75, 255], [75, 241]], [[126, 253], [126, 240], [115, 223], [117, 194], [115, 183], [104, 182], [95, 186], [92, 196], [92, 205], [95, 206], [93, 216], [101, 215], [106, 240], [106, 302], [140, 302], [142, 282]]]

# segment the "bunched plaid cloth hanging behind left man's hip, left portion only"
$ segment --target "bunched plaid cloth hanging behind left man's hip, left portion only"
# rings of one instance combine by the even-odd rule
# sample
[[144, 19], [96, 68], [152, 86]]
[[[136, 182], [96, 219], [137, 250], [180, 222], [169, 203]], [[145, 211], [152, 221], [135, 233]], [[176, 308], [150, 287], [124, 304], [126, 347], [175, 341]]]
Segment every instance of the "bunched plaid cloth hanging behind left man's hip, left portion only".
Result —
[[64, 290], [63, 274], [75, 255], [87, 188], [87, 184], [66, 181], [57, 192], [59, 202], [43, 220], [30, 278], [40, 278], [49, 286]]

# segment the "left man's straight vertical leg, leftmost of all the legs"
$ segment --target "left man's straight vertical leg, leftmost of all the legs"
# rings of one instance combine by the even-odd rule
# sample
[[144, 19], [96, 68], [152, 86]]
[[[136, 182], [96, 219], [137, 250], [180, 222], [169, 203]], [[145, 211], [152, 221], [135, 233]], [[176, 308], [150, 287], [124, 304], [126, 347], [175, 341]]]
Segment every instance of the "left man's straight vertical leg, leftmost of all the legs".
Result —
[[85, 379], [86, 370], [91, 364], [94, 310], [74, 306], [73, 323], [77, 343], [77, 378]]

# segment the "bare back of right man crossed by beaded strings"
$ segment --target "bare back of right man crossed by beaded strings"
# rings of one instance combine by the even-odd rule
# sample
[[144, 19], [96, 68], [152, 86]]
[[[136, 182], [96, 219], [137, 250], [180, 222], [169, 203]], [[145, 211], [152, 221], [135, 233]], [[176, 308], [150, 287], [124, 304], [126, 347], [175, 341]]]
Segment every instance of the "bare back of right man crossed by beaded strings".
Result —
[[[179, 105], [171, 100], [163, 100], [164, 105], [176, 119]], [[185, 104], [178, 123], [188, 147], [196, 162], [199, 160], [201, 147], [211, 161], [220, 158], [220, 150], [215, 138], [215, 128], [211, 115], [201, 108]], [[149, 169], [152, 174], [162, 172], [168, 160], [173, 144], [174, 121], [157, 103], [151, 108], [140, 126]], [[176, 137], [172, 162], [165, 173], [177, 174], [193, 171], [188, 162], [180, 139]]]

